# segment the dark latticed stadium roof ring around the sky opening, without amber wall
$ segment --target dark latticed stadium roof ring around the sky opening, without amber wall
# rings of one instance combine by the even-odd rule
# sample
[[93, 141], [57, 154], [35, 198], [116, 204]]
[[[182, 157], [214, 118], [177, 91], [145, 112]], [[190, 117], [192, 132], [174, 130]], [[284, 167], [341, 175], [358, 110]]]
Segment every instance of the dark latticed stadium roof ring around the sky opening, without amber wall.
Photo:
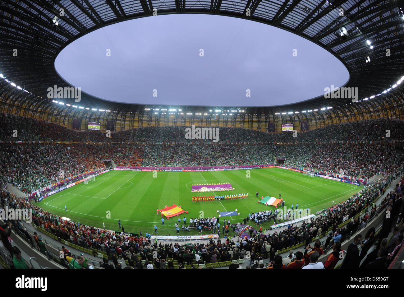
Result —
[[[348, 105], [366, 108], [374, 98], [397, 104], [400, 102], [395, 97], [401, 94], [403, 84], [396, 85], [396, 82], [404, 75], [404, 16], [400, 5], [400, 1], [395, 0], [5, 0], [0, 4], [0, 72], [3, 76], [0, 96], [23, 97], [26, 105], [35, 104], [38, 110], [55, 104], [57, 108], [68, 108], [46, 97], [48, 86], [69, 86], [55, 71], [54, 62], [59, 52], [89, 32], [124, 20], [152, 16], [157, 10], [159, 15], [201, 13], [238, 17], [288, 30], [340, 59], [350, 75], [345, 86], [358, 88], [357, 103], [322, 96], [287, 108], [264, 107], [264, 110], [276, 114]], [[17, 56], [13, 55], [15, 49]], [[383, 92], [393, 96], [383, 96]], [[64, 101], [74, 104], [74, 99]], [[1, 104], [5, 104], [4, 100]], [[111, 103], [86, 94], [82, 95], [82, 105], [102, 112], [151, 112], [171, 108]], [[178, 111], [181, 107], [173, 109]], [[226, 109], [257, 112], [262, 108], [234, 106]], [[215, 112], [213, 107], [212, 110]]]

